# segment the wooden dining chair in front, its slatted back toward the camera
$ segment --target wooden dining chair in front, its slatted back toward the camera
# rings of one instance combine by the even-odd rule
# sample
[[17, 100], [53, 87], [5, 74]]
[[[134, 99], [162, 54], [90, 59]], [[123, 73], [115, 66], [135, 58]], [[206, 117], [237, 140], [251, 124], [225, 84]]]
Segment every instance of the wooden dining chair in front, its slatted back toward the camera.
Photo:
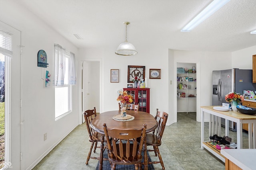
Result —
[[[134, 164], [135, 170], [138, 170], [142, 161], [143, 145], [146, 145], [147, 125], [144, 124], [140, 130], [108, 129], [106, 123], [103, 124], [103, 127], [112, 170], [116, 169], [116, 164]], [[112, 137], [112, 141], [110, 137]], [[138, 139], [140, 142], [137, 142]]]

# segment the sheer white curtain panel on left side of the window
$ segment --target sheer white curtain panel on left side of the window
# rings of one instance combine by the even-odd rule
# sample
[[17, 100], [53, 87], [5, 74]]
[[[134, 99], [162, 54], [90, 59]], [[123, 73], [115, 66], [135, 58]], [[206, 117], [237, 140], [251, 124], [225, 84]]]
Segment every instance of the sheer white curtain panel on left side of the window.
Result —
[[62, 48], [58, 44], [54, 44], [54, 51], [55, 51], [55, 78], [53, 81], [54, 86], [64, 86], [64, 77], [65, 77], [65, 67], [66, 67], [66, 57], [65, 49]]

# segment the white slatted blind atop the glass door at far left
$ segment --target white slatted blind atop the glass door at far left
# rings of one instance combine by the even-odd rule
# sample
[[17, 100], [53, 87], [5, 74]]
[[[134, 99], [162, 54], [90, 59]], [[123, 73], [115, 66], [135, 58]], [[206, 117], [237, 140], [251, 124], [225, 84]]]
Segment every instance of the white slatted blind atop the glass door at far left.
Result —
[[12, 57], [12, 34], [0, 30], [0, 52]]

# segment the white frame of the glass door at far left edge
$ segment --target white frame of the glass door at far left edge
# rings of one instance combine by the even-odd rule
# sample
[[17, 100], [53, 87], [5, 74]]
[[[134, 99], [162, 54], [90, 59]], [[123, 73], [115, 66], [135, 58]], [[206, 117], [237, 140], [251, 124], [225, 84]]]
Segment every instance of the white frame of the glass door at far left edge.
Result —
[[[6, 134], [5, 138], [8, 139], [7, 143], [9, 145], [8, 155], [5, 156], [5, 162], [10, 165], [6, 168], [13, 169], [24, 169], [24, 163], [20, 154], [24, 150], [24, 126], [22, 126], [22, 121], [24, 116], [22, 115], [21, 99], [22, 99], [22, 60], [21, 60], [21, 34], [22, 31], [12, 27], [11, 25], [0, 21], [0, 28], [13, 34], [12, 36], [12, 59], [10, 61], [9, 68], [5, 68], [8, 71], [9, 80], [8, 85], [5, 88], [10, 88], [10, 94], [5, 96], [5, 100], [9, 102], [7, 105], [10, 106], [6, 111], [9, 114], [9, 122], [6, 123], [10, 129], [9, 134]], [[6, 74], [6, 73], [5, 73]], [[6, 131], [5, 131], [6, 132]], [[8, 136], [9, 135], [9, 136]], [[6, 146], [5, 146], [6, 147]], [[8, 157], [7, 157], [8, 156]]]

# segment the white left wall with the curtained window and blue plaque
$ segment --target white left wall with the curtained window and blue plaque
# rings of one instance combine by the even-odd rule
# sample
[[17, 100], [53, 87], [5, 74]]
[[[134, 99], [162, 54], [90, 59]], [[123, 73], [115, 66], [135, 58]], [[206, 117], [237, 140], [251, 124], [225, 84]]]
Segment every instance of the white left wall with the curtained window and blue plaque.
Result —
[[[21, 138], [24, 141], [12, 142], [22, 145], [21, 169], [31, 169], [78, 125], [77, 87], [72, 86], [72, 113], [55, 121], [54, 87], [51, 84], [45, 88], [45, 80], [41, 80], [42, 75], [45, 78], [45, 70], [52, 74], [50, 79], [53, 80], [54, 43], [72, 51], [76, 57], [78, 49], [15, 1], [1, 3], [0, 20], [22, 31], [22, 45], [25, 47], [21, 58], [21, 119], [24, 120]], [[37, 66], [37, 53], [40, 49], [46, 51], [48, 56], [49, 67], [46, 69]], [[11, 129], [11, 133], [19, 135], [20, 131]], [[44, 133], [47, 133], [46, 141]]]

